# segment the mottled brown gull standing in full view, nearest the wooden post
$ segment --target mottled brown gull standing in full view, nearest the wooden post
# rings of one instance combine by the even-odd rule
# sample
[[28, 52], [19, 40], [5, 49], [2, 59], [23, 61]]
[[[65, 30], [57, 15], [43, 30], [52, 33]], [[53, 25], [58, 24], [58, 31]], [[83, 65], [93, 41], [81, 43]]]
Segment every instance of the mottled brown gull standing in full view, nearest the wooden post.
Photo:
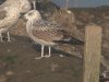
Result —
[[[28, 36], [37, 44], [41, 45], [41, 59], [43, 57], [49, 58], [51, 56], [51, 47], [61, 40], [70, 40], [72, 37], [66, 37], [68, 33], [59, 27], [59, 25], [41, 19], [37, 10], [28, 11], [24, 17], [27, 20], [26, 31]], [[65, 33], [65, 34], [64, 34]], [[64, 39], [64, 37], [66, 37]], [[49, 55], [44, 55], [45, 46], [49, 47]]]

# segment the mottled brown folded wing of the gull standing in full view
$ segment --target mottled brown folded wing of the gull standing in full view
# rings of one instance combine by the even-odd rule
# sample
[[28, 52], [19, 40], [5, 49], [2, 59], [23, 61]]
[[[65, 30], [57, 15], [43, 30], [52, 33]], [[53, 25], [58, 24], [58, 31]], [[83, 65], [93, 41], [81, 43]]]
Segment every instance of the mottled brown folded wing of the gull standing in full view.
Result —
[[32, 34], [45, 42], [60, 40], [63, 38], [63, 34], [57, 25], [43, 20], [34, 22]]

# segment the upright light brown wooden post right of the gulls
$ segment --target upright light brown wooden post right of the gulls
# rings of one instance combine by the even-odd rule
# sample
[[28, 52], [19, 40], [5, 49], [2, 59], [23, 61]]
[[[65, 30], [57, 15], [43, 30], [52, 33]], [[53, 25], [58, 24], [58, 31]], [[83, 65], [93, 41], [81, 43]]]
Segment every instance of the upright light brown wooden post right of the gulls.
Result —
[[85, 30], [83, 82], [99, 82], [101, 55], [101, 27], [88, 25]]

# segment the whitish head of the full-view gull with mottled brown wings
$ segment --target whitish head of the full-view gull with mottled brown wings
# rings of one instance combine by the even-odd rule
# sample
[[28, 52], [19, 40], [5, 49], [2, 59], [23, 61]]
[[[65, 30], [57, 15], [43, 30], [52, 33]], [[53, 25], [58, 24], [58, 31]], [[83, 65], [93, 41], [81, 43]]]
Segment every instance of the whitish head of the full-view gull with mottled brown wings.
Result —
[[28, 11], [24, 17], [27, 20], [27, 21], [33, 21], [33, 20], [40, 20], [41, 19], [41, 15], [39, 13], [39, 11], [37, 10], [31, 10]]

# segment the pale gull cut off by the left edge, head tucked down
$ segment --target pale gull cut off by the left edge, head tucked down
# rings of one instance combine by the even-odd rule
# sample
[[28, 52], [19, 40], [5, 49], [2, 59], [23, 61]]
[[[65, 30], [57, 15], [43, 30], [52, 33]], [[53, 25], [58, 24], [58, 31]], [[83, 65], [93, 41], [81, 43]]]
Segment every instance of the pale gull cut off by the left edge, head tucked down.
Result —
[[0, 5], [0, 39], [2, 33], [8, 33], [8, 42], [10, 42], [9, 30], [17, 23], [21, 13], [26, 13], [31, 10], [28, 0], [7, 0]]

